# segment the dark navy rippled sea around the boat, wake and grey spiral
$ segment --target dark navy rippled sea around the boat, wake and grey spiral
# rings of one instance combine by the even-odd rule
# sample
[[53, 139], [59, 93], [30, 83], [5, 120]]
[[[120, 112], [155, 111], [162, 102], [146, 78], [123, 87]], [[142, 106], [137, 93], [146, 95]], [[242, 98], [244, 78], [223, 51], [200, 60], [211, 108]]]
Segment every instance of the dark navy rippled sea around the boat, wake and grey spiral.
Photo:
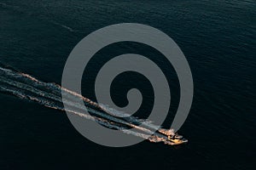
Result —
[[[253, 0], [0, 0], [0, 62], [5, 65], [60, 83], [68, 54], [83, 37], [103, 26], [135, 22], [154, 26], [177, 42], [195, 83], [194, 102], [180, 129], [189, 144], [179, 147], [148, 141], [125, 148], [104, 147], [84, 139], [64, 112], [0, 94], [0, 169], [253, 169], [255, 9]], [[92, 61], [87, 70], [91, 75], [84, 74], [89, 75], [83, 79], [84, 96], [95, 98], [90, 85], [96, 74], [93, 68], [111, 55], [137, 52], [151, 55], [163, 71], [170, 71], [175, 111], [178, 82], [172, 66], [139, 45], [114, 44], [99, 53], [102, 58]], [[131, 84], [137, 80], [128, 77]], [[124, 99], [124, 88], [131, 88], [129, 81], [121, 80], [116, 82], [122, 88], [112, 90], [116, 100]], [[143, 88], [143, 82], [133, 85]], [[148, 101], [149, 89], [143, 88]], [[125, 99], [119, 103], [124, 104]], [[171, 118], [165, 126], [171, 125]]]

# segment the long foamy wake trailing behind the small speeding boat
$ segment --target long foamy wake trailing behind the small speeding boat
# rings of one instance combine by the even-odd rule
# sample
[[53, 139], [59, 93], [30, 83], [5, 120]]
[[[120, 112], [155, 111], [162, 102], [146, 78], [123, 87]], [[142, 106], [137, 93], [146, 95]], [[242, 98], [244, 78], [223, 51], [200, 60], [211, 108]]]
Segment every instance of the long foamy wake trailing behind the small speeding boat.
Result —
[[[158, 127], [151, 122], [145, 122], [144, 120], [137, 119], [134, 116], [125, 118], [119, 118], [108, 114], [110, 111], [105, 105], [99, 105], [90, 99], [76, 94], [66, 88], [62, 88], [60, 85], [53, 82], [42, 82], [35, 77], [31, 77], [20, 71], [15, 71], [12, 68], [7, 68], [3, 65], [0, 66], [0, 92], [6, 94], [13, 94], [21, 99], [27, 99], [37, 102], [40, 105], [47, 106], [49, 108], [65, 111], [61, 99], [61, 90], [67, 97], [65, 103], [70, 105], [68, 112], [77, 116], [84, 117], [91, 121], [96, 121], [102, 126], [120, 130], [124, 133], [129, 133], [137, 137], [148, 139], [151, 142], [164, 142], [165, 144], [175, 144], [170, 140], [170, 136], [174, 133], [172, 130], [166, 130]], [[91, 114], [84, 114], [84, 107], [79, 105], [78, 99], [84, 100], [84, 105]], [[117, 114], [117, 113], [115, 113]], [[118, 114], [124, 114], [118, 112]], [[123, 115], [124, 116], [124, 115]], [[144, 127], [138, 127], [140, 123], [145, 125]], [[129, 128], [136, 128], [137, 132], [129, 130]], [[148, 138], [147, 134], [157, 131], [154, 135]], [[169, 137], [169, 138], [168, 138]]]

